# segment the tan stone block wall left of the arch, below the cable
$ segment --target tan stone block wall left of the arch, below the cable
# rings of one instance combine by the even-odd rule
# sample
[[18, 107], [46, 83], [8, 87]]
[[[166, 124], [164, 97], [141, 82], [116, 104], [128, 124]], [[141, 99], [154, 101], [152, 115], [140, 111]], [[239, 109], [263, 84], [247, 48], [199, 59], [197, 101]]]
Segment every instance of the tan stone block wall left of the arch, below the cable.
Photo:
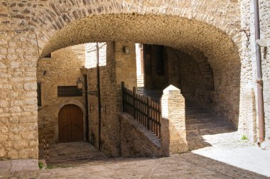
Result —
[[0, 33], [0, 161], [38, 158], [36, 36]]

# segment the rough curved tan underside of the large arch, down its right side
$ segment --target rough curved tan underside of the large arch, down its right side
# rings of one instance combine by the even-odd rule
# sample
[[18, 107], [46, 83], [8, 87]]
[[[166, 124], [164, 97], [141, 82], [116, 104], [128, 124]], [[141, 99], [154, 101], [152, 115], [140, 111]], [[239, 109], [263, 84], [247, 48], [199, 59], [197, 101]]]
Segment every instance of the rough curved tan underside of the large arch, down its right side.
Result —
[[212, 69], [215, 91], [212, 107], [238, 125], [240, 59], [237, 45], [225, 33], [207, 23], [139, 14], [107, 14], [72, 21], [48, 40], [41, 55], [68, 45], [96, 41], [128, 41], [166, 45]]

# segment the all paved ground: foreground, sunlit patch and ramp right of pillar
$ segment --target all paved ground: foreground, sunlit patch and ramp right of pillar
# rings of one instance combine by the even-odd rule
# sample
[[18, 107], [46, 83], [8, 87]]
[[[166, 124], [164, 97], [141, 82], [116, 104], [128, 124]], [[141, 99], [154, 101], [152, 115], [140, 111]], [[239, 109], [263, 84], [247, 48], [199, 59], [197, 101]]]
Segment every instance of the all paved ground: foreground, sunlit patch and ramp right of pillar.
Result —
[[[146, 92], [141, 91], [141, 93]], [[156, 94], [152, 98], [158, 101], [159, 96], [160, 94]], [[241, 140], [237, 131], [227, 121], [217, 119], [208, 110], [193, 104], [186, 106], [187, 140], [191, 153], [175, 154], [167, 158], [107, 158], [92, 148], [91, 155], [80, 151], [78, 160], [72, 158], [68, 161], [63, 160], [67, 156], [55, 156], [50, 162], [57, 168], [40, 170], [38, 178], [267, 178], [266, 176], [270, 176], [268, 172], [270, 163], [267, 163], [270, 160], [270, 151], [254, 148], [248, 141]], [[67, 144], [63, 145], [60, 151], [63, 151]], [[80, 143], [80, 145], [89, 144]], [[67, 149], [64, 153], [70, 154], [70, 151]], [[72, 151], [72, 153], [77, 152]]]

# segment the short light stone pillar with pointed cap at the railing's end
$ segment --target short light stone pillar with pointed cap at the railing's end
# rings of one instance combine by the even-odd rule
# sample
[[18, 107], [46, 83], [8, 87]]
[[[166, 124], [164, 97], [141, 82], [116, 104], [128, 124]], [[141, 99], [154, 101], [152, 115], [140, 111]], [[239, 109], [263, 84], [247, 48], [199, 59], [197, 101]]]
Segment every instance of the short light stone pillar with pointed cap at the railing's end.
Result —
[[185, 99], [170, 85], [161, 98], [161, 148], [165, 156], [188, 151], [185, 131]]

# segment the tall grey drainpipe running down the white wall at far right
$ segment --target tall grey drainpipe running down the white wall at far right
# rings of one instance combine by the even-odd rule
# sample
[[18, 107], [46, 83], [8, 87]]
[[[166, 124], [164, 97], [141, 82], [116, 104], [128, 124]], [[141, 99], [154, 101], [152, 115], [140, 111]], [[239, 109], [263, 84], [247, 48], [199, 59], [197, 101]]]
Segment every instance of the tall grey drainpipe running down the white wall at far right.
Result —
[[[255, 40], [260, 39], [259, 28], [259, 0], [254, 0], [254, 26]], [[263, 81], [261, 72], [261, 48], [256, 43], [256, 59], [257, 59], [257, 96], [258, 96], [258, 116], [259, 116], [259, 145], [264, 141], [264, 96]]]

